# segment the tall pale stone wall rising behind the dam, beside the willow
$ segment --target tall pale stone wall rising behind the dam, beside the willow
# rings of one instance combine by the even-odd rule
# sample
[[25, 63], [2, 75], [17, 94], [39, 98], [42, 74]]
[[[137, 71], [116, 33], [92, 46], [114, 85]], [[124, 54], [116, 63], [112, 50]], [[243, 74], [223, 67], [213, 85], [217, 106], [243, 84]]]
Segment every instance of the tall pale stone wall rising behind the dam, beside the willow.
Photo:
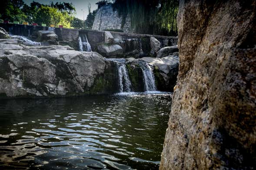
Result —
[[93, 29], [121, 29], [126, 33], [133, 32], [130, 17], [126, 17], [126, 21], [122, 26], [122, 16], [119, 16], [118, 12], [113, 10], [112, 4], [105, 5], [97, 11], [93, 22]]

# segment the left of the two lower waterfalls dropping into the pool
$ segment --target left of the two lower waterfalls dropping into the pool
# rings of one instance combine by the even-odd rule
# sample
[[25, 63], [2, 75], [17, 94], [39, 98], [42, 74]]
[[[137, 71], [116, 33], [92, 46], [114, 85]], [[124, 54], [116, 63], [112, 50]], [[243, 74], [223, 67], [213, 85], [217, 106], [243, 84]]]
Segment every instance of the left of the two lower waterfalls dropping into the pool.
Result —
[[119, 78], [119, 91], [120, 92], [131, 92], [131, 81], [126, 69], [126, 65], [119, 63], [118, 64], [118, 78]]

